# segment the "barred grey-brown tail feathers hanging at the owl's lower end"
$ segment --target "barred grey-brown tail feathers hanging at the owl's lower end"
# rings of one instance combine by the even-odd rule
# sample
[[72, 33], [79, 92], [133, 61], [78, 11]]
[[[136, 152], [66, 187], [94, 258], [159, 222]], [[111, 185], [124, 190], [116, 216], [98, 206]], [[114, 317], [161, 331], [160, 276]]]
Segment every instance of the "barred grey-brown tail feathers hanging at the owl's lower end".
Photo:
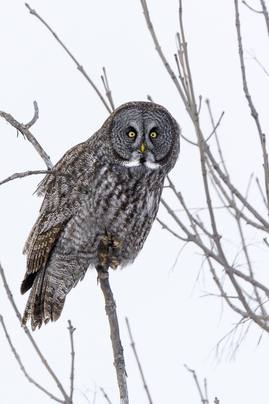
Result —
[[55, 293], [55, 288], [51, 287], [51, 273], [47, 271], [47, 265], [37, 272], [30, 291], [26, 308], [24, 310], [21, 325], [24, 327], [31, 319], [31, 328], [40, 328], [42, 323], [56, 321], [59, 319], [66, 298], [66, 294]]

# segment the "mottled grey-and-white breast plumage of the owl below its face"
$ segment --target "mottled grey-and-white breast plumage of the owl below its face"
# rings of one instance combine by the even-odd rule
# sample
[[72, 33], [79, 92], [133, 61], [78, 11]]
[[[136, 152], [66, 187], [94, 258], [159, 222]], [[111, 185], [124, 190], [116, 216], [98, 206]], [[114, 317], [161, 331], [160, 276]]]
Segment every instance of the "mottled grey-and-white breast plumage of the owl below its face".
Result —
[[132, 263], [155, 219], [164, 178], [117, 175], [103, 169], [92, 194], [94, 215], [105, 234], [116, 240], [119, 265]]

